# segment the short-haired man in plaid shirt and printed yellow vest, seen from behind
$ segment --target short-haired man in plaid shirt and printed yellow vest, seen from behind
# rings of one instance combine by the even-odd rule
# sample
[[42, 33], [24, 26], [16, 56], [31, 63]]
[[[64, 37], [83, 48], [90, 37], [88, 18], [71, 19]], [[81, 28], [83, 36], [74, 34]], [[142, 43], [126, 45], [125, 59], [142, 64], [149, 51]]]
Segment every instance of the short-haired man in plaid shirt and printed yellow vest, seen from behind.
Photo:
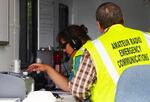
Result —
[[150, 64], [150, 35], [124, 26], [119, 6], [106, 2], [96, 11], [99, 30], [103, 33], [88, 41], [70, 90], [80, 99], [114, 102], [117, 81], [131, 66]]

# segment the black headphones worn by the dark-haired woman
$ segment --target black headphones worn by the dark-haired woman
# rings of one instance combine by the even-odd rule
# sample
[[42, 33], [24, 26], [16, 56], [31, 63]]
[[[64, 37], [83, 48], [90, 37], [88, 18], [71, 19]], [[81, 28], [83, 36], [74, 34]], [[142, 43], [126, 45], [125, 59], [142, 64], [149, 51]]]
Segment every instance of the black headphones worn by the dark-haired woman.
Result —
[[70, 46], [74, 49], [74, 50], [78, 50], [80, 49], [80, 47], [82, 46], [82, 42], [78, 37], [74, 37], [73, 34], [71, 34], [71, 32], [68, 30], [66, 31], [67, 33], [67, 37], [69, 39], [69, 44]]

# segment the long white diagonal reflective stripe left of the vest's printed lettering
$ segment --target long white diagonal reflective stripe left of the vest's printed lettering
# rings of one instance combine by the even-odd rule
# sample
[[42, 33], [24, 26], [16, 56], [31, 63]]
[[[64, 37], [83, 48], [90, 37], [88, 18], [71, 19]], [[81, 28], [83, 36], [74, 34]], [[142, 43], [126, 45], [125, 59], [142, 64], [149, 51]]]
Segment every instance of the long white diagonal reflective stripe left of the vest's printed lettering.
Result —
[[[109, 72], [111, 78], [113, 79], [114, 83], [117, 84], [119, 75], [114, 65], [112, 64], [112, 61], [110, 57], [108, 56], [107, 51], [105, 50], [105, 47], [103, 46], [101, 41], [98, 39], [94, 40], [93, 44], [96, 47], [97, 51], [99, 52], [99, 55], [101, 56], [103, 63], [105, 64], [106, 69]], [[99, 45], [99, 46], [96, 46], [96, 45]]]

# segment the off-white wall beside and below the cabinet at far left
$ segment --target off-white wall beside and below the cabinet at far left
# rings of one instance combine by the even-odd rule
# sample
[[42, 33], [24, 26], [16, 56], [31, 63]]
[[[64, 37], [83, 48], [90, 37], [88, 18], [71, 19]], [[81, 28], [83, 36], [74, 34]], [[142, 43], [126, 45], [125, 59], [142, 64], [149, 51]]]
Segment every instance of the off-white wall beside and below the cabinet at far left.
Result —
[[9, 44], [0, 46], [0, 71], [8, 71], [19, 58], [19, 0], [9, 0]]

